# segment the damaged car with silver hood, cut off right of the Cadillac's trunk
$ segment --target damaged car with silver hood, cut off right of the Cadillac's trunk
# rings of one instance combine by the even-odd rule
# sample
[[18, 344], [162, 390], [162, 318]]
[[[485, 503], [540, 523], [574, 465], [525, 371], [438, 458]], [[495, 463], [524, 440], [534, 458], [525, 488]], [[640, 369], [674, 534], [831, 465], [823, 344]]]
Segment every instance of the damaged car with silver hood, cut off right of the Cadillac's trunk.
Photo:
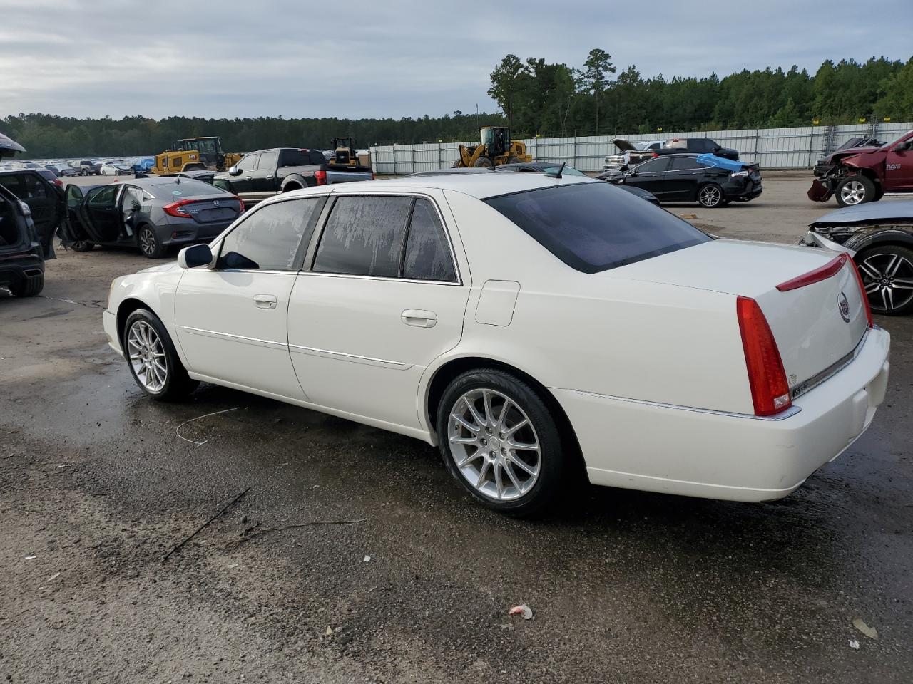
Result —
[[825, 213], [800, 244], [850, 254], [877, 314], [913, 311], [913, 200]]

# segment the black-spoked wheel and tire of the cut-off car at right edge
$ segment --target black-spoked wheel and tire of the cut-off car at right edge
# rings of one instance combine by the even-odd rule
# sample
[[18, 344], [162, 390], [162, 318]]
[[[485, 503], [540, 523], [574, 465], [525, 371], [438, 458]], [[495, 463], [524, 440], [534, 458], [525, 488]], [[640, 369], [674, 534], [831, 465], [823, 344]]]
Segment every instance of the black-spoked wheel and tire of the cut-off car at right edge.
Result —
[[913, 311], [913, 250], [876, 245], [855, 255], [872, 312], [903, 316]]

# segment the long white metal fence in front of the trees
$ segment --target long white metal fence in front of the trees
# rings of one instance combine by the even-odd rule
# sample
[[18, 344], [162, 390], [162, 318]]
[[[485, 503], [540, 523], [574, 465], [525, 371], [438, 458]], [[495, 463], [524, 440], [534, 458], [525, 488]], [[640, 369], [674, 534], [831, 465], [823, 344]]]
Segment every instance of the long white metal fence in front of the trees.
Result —
[[[657, 134], [589, 136], [581, 138], [532, 138], [523, 140], [533, 161], [567, 161], [581, 171], [602, 171], [603, 159], [617, 152], [612, 140], [630, 142], [672, 138], [711, 138], [721, 146], [739, 150], [740, 160], [757, 162], [767, 169], [808, 169], [826, 152], [855, 136], [874, 135], [890, 141], [913, 129], [913, 123], [869, 123], [853, 126], [803, 126], [794, 129], [672, 131]], [[464, 144], [473, 144], [471, 142]], [[420, 145], [379, 145], [371, 148], [375, 173], [403, 175], [453, 166], [458, 142]]]

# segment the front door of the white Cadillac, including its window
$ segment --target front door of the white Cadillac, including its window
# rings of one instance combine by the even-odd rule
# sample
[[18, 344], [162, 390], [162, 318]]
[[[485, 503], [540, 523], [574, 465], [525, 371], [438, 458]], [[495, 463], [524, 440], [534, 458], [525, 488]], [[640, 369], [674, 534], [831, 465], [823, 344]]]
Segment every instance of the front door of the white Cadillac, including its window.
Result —
[[323, 197], [266, 204], [221, 241], [215, 268], [189, 269], [174, 319], [187, 369], [205, 379], [306, 399], [289, 358], [289, 295]]

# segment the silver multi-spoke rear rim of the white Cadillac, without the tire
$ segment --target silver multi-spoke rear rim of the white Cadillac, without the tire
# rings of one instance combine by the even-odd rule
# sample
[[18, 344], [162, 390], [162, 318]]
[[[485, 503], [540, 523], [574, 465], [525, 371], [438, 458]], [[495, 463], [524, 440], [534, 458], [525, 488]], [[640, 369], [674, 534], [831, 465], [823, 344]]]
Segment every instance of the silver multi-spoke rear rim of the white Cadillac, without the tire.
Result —
[[519, 499], [539, 478], [535, 428], [516, 401], [494, 389], [471, 389], [456, 399], [447, 440], [456, 470], [489, 499]]

